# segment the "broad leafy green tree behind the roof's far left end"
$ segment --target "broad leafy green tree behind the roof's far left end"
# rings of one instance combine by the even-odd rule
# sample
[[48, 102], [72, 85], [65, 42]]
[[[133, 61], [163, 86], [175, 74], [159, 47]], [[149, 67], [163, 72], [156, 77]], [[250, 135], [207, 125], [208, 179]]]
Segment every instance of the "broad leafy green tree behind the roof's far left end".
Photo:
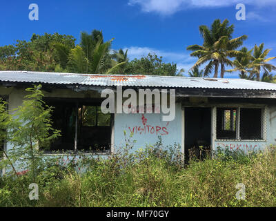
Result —
[[38, 70], [54, 71], [57, 65], [62, 66], [55, 44], [67, 48], [75, 47], [75, 40], [70, 35], [32, 35], [30, 41], [20, 41], [12, 46], [0, 48], [1, 70]]

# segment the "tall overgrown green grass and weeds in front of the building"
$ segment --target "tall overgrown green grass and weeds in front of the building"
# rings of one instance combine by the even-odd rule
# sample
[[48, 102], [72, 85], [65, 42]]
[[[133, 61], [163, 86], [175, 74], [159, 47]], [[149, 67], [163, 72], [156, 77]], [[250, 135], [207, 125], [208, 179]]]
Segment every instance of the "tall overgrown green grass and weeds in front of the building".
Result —
[[[40, 171], [39, 200], [28, 173], [0, 178], [0, 206], [276, 206], [276, 152], [218, 152], [184, 166], [177, 148], [148, 146], [107, 160], [86, 159], [86, 173], [50, 162]], [[126, 154], [127, 153], [127, 154]], [[246, 199], [237, 200], [237, 183]]]

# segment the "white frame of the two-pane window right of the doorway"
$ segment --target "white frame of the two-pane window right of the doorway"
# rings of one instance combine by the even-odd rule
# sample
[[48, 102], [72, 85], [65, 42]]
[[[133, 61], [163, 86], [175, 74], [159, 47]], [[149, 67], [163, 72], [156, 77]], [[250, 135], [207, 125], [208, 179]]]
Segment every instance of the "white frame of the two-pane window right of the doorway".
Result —
[[[226, 138], [226, 139], [221, 139], [221, 138], [217, 138], [217, 108], [237, 108], [237, 116], [236, 116], [236, 137], [235, 139], [233, 138]], [[246, 139], [246, 140], [242, 140], [241, 136], [240, 136], [240, 117], [241, 117], [241, 108], [252, 108], [252, 109], [261, 109], [262, 110], [262, 127], [261, 127], [261, 135], [262, 135], [262, 139]], [[255, 106], [235, 106], [235, 105], [219, 105], [219, 106], [215, 106], [214, 108], [214, 135], [215, 135], [215, 142], [220, 142], [220, 141], [233, 141], [233, 142], [237, 142], [237, 141], [242, 141], [242, 142], [266, 142], [266, 112], [267, 112], [267, 106], [260, 106], [260, 105], [255, 105]]]

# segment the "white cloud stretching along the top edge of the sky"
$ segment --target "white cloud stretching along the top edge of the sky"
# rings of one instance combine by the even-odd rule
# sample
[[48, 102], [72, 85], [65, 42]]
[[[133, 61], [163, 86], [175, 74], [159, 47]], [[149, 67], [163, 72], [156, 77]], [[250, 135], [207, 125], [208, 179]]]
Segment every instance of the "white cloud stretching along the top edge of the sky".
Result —
[[[219, 8], [235, 6], [240, 0], [129, 0], [129, 6], [140, 6], [143, 12], [157, 12], [161, 15], [172, 15], [186, 8]], [[276, 5], [275, 0], [244, 0], [243, 3], [253, 6]]]

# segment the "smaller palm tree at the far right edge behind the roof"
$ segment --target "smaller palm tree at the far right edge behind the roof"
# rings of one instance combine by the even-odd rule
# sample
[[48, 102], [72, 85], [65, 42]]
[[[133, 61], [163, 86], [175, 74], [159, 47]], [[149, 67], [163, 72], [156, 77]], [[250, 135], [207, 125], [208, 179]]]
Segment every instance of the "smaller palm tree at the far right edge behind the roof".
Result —
[[259, 47], [257, 45], [254, 46], [253, 62], [251, 64], [253, 68], [253, 73], [251, 73], [251, 75], [255, 74], [257, 81], [259, 81], [259, 74], [262, 69], [264, 70], [264, 73], [270, 73], [271, 70], [276, 70], [275, 66], [267, 63], [268, 61], [271, 61], [276, 58], [276, 57], [266, 58], [266, 56], [268, 55], [271, 49], [266, 49], [264, 50], [264, 52], [263, 50], [264, 50], [264, 43], [260, 44]]

